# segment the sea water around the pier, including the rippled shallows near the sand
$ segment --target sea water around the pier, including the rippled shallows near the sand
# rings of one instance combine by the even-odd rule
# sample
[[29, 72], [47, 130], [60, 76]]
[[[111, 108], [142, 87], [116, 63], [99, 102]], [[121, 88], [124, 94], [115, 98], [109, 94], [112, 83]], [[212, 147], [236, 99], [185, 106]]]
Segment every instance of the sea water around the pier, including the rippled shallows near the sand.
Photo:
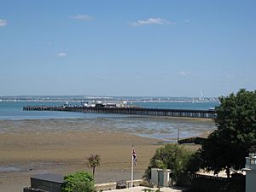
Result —
[[[212, 131], [212, 121], [170, 119], [119, 114], [73, 113], [52, 111], [23, 111], [26, 105], [60, 106], [65, 102], [0, 102], [0, 133], [17, 131], [127, 131], [138, 136], [170, 140], [177, 137], [198, 136]], [[79, 102], [69, 102], [79, 105]], [[143, 108], [208, 109], [218, 102], [132, 102]], [[35, 126], [36, 125], [36, 126]]]

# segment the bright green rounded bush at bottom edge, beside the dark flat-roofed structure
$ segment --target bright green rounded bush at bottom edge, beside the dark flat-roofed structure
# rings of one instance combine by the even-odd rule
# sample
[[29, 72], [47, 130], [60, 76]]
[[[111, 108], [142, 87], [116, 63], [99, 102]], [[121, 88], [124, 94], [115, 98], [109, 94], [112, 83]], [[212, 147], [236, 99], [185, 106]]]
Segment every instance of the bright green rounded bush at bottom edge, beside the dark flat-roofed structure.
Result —
[[76, 172], [64, 177], [63, 192], [94, 192], [94, 179], [89, 172]]

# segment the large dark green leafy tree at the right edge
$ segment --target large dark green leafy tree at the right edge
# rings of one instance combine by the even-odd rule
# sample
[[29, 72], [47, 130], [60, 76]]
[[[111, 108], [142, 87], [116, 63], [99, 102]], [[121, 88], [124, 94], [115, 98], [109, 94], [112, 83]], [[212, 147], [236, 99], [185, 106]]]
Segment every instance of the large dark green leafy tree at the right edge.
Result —
[[245, 166], [248, 148], [256, 144], [256, 91], [239, 90], [219, 98], [213, 131], [201, 148], [204, 167], [218, 173]]

